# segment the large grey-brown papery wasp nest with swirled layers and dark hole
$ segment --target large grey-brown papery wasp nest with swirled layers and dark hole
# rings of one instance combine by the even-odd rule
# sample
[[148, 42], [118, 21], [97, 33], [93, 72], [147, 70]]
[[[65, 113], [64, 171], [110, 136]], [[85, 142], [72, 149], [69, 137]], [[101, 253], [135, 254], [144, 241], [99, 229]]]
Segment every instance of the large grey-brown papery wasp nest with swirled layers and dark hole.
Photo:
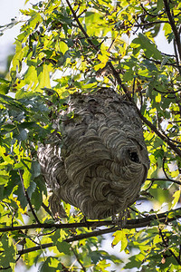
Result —
[[38, 157], [52, 189], [89, 219], [105, 219], [133, 204], [147, 178], [149, 160], [141, 121], [131, 102], [110, 88], [74, 93], [61, 112], [61, 139], [50, 137]]

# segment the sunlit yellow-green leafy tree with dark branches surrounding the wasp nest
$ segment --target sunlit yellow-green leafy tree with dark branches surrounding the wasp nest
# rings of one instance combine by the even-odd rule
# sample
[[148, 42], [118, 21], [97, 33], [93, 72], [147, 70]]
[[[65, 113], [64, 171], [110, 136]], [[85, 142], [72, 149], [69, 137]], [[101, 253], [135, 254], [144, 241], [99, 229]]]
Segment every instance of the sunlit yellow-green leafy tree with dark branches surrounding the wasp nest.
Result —
[[[49, 0], [22, 13], [11, 69], [0, 79], [0, 269], [12, 271], [23, 258], [40, 271], [110, 271], [111, 263], [178, 271], [180, 1]], [[157, 49], [160, 32], [174, 54]], [[121, 229], [111, 220], [82, 222], [80, 211], [65, 203], [68, 218], [55, 221], [36, 156], [68, 95], [101, 86], [135, 103], [150, 159], [142, 204], [131, 206]], [[100, 248], [105, 233], [113, 233], [112, 246], [120, 242], [128, 261]]]

